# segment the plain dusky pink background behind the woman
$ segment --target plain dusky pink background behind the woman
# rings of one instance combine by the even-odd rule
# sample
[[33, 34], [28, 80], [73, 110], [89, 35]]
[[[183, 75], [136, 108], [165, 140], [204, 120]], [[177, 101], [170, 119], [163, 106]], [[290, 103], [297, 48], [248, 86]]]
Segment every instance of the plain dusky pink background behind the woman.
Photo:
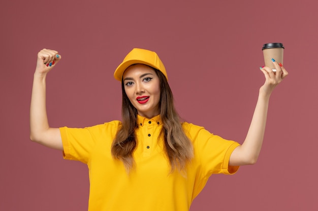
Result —
[[[132, 48], [156, 51], [188, 122], [243, 142], [264, 82], [261, 48], [285, 46], [290, 75], [271, 97], [256, 165], [214, 175], [190, 210], [317, 210], [317, 1], [2, 1], [0, 210], [87, 210], [85, 164], [29, 141], [37, 53], [50, 125], [120, 119], [113, 71]], [[142, 200], [142, 199], [141, 199]], [[123, 201], [124, 203], [124, 201]]]

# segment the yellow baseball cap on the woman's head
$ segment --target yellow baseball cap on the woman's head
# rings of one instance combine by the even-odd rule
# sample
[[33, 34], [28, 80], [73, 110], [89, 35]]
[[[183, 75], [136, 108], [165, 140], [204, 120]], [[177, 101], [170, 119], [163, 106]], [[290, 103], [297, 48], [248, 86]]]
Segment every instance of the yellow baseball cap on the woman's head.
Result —
[[129, 66], [133, 64], [145, 64], [150, 67], [153, 67], [161, 71], [168, 80], [166, 68], [163, 62], [158, 57], [158, 55], [153, 51], [149, 51], [145, 49], [133, 49], [131, 52], [129, 52], [129, 54], [127, 54], [127, 56], [123, 59], [121, 64], [115, 70], [114, 78], [116, 80], [121, 81], [121, 78], [125, 69], [127, 69]]

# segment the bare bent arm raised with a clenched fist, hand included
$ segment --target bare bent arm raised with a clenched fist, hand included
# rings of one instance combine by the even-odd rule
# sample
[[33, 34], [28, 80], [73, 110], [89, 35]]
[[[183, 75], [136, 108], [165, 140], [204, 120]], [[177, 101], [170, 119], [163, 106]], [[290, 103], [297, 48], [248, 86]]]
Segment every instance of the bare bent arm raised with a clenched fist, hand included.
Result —
[[57, 51], [38, 53], [30, 105], [30, 139], [44, 146], [63, 150], [58, 128], [50, 128], [46, 114], [46, 75], [61, 59]]

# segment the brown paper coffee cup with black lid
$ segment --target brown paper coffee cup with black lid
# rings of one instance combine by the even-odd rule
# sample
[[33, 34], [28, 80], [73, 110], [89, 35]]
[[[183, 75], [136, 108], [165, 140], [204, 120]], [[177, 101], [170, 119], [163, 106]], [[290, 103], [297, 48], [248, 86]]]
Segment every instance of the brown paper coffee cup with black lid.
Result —
[[272, 59], [274, 59], [277, 63], [283, 64], [284, 47], [282, 43], [264, 44], [262, 50], [265, 66], [271, 68], [274, 72], [276, 72], [276, 68], [272, 62]]

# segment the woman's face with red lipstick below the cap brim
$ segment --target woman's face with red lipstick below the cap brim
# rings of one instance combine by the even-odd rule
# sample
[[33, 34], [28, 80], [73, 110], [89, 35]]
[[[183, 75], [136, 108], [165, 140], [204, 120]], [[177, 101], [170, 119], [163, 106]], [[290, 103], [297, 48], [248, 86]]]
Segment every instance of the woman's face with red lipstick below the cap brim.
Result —
[[125, 93], [139, 115], [152, 118], [160, 113], [160, 81], [154, 69], [144, 64], [131, 65], [122, 78]]

